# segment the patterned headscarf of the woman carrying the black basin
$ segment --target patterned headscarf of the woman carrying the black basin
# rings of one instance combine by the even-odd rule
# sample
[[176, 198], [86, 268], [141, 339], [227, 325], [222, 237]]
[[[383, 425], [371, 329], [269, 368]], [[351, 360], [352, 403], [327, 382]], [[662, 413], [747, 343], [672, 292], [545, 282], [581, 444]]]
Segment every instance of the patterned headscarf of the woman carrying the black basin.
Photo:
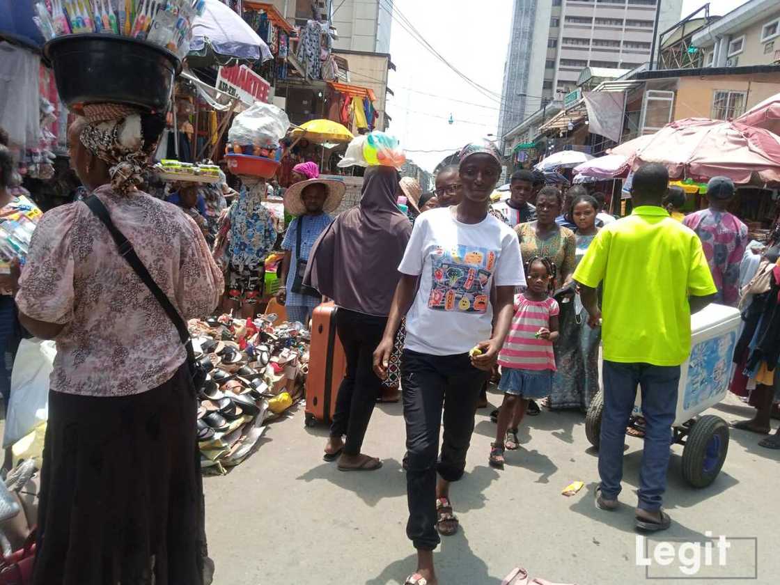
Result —
[[108, 164], [114, 190], [126, 195], [144, 183], [149, 154], [143, 149], [140, 112], [120, 104], [85, 105], [84, 118], [81, 144]]

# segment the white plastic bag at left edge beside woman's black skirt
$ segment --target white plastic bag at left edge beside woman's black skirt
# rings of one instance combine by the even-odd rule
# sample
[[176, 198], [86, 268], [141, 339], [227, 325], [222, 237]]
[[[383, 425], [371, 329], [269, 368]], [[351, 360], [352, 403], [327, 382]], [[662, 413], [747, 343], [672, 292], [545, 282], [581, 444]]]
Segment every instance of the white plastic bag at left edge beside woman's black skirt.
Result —
[[11, 398], [5, 414], [4, 449], [48, 420], [49, 375], [57, 346], [53, 341], [22, 339], [11, 373]]

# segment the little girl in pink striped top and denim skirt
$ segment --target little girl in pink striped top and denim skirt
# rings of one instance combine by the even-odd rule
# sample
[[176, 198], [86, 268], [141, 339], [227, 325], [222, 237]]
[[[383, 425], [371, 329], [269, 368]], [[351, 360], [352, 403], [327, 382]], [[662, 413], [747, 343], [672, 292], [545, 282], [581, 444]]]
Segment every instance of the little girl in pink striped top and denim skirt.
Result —
[[[550, 296], [555, 264], [533, 257], [526, 264], [528, 288], [515, 296], [515, 316], [509, 335], [498, 354], [502, 367], [498, 389], [504, 402], [498, 413], [495, 443], [491, 443], [491, 466], [504, 468], [504, 449], [517, 449], [517, 426], [523, 420], [529, 399], [548, 396], [555, 371], [552, 344], [558, 339], [558, 303]], [[516, 421], [515, 427], [509, 427]]]

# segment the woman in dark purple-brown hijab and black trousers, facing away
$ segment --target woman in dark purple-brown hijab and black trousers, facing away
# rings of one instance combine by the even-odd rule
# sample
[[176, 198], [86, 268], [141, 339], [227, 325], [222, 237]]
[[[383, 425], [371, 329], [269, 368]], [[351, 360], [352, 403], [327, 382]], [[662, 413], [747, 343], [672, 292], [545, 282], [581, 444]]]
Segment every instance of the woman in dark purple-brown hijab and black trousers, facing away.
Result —
[[[372, 354], [385, 331], [396, 270], [412, 225], [396, 204], [399, 176], [395, 168], [368, 168], [360, 205], [346, 211], [326, 229], [311, 250], [305, 280], [338, 308], [336, 330], [346, 353], [346, 378], [339, 388], [325, 460], [339, 454], [339, 470], [378, 470], [381, 461], [360, 448], [381, 380]], [[342, 437], [346, 434], [346, 442]]]

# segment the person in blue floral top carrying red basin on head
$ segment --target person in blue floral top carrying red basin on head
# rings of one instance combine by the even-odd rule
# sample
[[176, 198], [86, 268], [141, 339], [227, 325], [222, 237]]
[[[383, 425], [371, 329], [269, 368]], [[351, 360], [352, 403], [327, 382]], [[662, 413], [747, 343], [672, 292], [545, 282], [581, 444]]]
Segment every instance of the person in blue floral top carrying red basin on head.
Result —
[[265, 257], [273, 250], [277, 233], [271, 212], [263, 205], [266, 179], [240, 178], [245, 188], [229, 207], [222, 226], [230, 234], [225, 304], [228, 310], [240, 309], [244, 318], [254, 318], [264, 292]]

